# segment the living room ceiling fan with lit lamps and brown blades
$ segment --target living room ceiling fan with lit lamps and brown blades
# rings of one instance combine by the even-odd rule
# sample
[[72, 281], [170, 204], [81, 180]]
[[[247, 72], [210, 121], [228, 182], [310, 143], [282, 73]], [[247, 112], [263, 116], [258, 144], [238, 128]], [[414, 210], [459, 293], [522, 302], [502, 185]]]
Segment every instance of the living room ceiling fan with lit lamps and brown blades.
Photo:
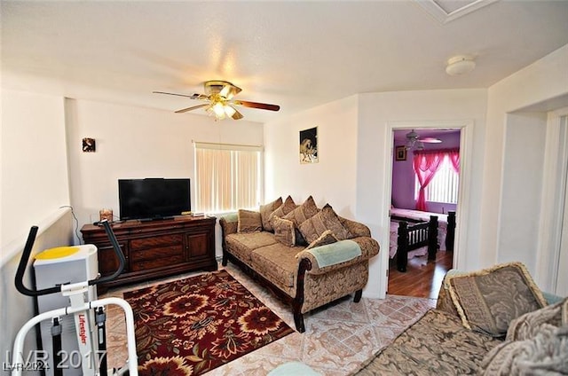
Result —
[[268, 105], [266, 103], [250, 102], [248, 100], [237, 100], [233, 97], [241, 92], [241, 88], [233, 85], [231, 82], [226, 81], [206, 81], [203, 84], [205, 94], [195, 93], [193, 95], [168, 93], [164, 91], [153, 91], [156, 94], [175, 95], [178, 97], [187, 97], [195, 100], [205, 101], [207, 103], [182, 108], [177, 110], [177, 114], [193, 111], [198, 108], [205, 107], [208, 114], [214, 115], [217, 120], [223, 120], [225, 117], [230, 117], [233, 120], [242, 119], [242, 114], [237, 111], [235, 106], [243, 106], [250, 108], [258, 108], [261, 110], [279, 111], [280, 106]]

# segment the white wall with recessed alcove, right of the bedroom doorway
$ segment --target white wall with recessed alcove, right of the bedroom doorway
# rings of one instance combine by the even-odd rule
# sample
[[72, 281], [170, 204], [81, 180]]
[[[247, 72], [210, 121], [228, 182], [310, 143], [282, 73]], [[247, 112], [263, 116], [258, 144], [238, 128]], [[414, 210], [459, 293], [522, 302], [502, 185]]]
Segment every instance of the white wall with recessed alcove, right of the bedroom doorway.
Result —
[[[548, 265], [536, 267], [542, 250], [536, 249], [534, 229], [545, 219], [540, 217], [540, 200], [542, 171], [547, 168], [543, 165], [546, 112], [567, 106], [558, 101], [567, 94], [568, 45], [488, 90], [485, 184], [480, 202], [484, 225], [479, 234], [479, 259], [483, 266], [521, 260], [527, 263], [542, 288], [550, 287], [549, 268]], [[524, 111], [534, 105], [542, 108], [540, 114]], [[518, 145], [527, 147], [519, 150]], [[528, 159], [538, 163], [527, 165]], [[523, 179], [520, 174], [533, 177]], [[509, 184], [507, 179], [511, 177], [517, 182], [523, 180], [523, 184]], [[518, 195], [518, 190], [523, 194]], [[538, 203], [537, 208], [535, 203]], [[525, 222], [511, 222], [512, 218], [522, 218]], [[522, 226], [518, 230], [516, 223]]]

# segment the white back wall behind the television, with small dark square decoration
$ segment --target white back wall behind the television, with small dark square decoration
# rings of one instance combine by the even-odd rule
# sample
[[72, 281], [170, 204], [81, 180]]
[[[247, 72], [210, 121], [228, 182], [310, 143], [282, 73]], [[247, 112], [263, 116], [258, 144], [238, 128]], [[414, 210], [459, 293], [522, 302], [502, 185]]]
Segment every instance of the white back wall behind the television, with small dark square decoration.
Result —
[[[189, 177], [194, 208], [192, 141], [263, 143], [263, 125], [252, 121], [215, 121], [90, 100], [67, 99], [65, 104], [71, 203], [80, 226], [99, 221], [101, 208], [113, 208], [118, 217], [120, 178]], [[95, 138], [95, 153], [83, 153], [83, 137]]]

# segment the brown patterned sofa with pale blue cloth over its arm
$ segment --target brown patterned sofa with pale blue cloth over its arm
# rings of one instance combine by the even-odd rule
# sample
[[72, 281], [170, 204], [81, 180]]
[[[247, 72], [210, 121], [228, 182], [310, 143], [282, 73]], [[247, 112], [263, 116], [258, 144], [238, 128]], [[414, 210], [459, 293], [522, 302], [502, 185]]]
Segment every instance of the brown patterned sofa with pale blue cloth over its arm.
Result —
[[379, 244], [368, 227], [318, 208], [310, 196], [296, 205], [290, 196], [258, 211], [219, 217], [223, 265], [231, 261], [287, 302], [296, 330], [305, 331], [304, 313], [355, 294], [367, 285], [368, 261]]

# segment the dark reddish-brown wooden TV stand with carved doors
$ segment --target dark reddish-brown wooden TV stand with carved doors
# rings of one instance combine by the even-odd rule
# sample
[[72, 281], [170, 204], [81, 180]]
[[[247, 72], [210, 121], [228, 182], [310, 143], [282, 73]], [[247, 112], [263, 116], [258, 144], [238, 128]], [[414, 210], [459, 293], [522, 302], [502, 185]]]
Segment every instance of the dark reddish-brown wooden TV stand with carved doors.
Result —
[[[122, 274], [98, 285], [99, 293], [151, 278], [162, 278], [192, 270], [217, 270], [215, 223], [213, 216], [177, 216], [148, 222], [112, 223], [114, 235], [126, 258]], [[85, 244], [99, 249], [99, 273], [118, 269], [118, 259], [104, 227], [85, 224], [81, 229]]]

